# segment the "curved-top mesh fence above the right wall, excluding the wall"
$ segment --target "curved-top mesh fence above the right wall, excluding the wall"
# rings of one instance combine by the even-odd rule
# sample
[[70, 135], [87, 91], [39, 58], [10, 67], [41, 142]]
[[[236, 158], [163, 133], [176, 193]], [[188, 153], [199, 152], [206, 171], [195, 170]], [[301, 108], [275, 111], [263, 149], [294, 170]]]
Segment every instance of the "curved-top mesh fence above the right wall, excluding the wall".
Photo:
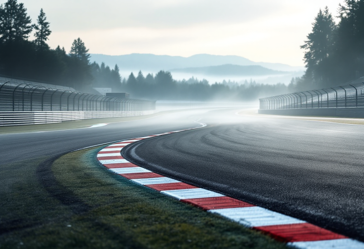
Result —
[[260, 110], [364, 107], [364, 82], [259, 99]]

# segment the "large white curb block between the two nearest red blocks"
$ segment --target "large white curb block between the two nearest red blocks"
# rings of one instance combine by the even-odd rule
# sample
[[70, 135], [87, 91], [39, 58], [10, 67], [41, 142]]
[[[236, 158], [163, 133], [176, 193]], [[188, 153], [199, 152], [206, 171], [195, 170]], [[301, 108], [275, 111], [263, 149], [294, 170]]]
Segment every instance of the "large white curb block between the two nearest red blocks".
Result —
[[247, 208], [212, 209], [208, 212], [220, 214], [221, 216], [248, 227], [297, 224], [305, 222], [257, 206]]

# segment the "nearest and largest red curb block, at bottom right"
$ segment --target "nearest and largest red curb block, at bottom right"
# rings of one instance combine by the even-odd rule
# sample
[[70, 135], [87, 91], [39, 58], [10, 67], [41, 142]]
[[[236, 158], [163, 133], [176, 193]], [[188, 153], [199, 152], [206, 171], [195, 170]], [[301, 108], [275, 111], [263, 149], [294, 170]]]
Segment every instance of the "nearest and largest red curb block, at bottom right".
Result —
[[254, 229], [259, 230], [265, 234], [269, 234], [276, 240], [283, 242], [335, 240], [348, 238], [310, 223], [257, 226], [254, 227]]

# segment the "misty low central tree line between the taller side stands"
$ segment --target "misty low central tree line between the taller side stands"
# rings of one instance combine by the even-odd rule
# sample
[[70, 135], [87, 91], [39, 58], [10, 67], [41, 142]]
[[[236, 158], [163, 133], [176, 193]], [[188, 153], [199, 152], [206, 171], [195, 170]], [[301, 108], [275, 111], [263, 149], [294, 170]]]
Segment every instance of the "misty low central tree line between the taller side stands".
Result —
[[238, 82], [215, 82], [209, 84], [206, 79], [175, 80], [168, 71], [143, 75], [142, 71], [135, 76], [131, 73], [122, 81], [122, 89], [130, 92], [133, 98], [163, 100], [234, 100], [252, 101], [261, 97], [288, 93], [285, 84], [259, 84], [253, 80]]

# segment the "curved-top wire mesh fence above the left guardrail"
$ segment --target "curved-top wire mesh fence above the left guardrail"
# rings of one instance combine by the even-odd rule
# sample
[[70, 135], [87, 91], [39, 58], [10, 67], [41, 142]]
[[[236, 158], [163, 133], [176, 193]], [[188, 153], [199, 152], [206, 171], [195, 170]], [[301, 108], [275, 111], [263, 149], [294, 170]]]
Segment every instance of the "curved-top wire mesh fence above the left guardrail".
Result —
[[0, 111], [149, 111], [155, 102], [0, 80]]

